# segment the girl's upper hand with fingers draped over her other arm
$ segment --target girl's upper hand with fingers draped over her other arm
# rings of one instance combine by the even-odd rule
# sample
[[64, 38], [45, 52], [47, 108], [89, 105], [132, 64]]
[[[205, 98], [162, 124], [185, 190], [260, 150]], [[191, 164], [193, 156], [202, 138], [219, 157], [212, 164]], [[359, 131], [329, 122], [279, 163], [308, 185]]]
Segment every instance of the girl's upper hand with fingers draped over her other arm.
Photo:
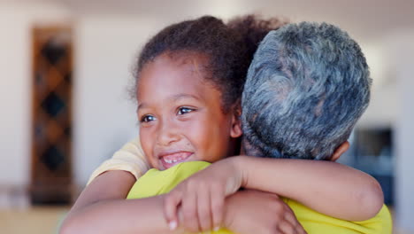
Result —
[[226, 196], [242, 186], [242, 172], [232, 158], [220, 160], [188, 177], [165, 195], [165, 218], [171, 230], [178, 225], [177, 208], [181, 206], [185, 230], [216, 230], [222, 224]]

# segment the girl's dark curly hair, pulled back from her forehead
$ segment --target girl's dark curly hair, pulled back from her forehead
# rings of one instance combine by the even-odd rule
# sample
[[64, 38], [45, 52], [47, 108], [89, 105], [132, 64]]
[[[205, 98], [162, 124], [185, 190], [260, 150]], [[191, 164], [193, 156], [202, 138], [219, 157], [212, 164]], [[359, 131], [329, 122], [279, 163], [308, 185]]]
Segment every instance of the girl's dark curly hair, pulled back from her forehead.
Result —
[[204, 70], [206, 79], [222, 93], [222, 105], [227, 109], [242, 96], [251, 59], [258, 43], [272, 29], [282, 25], [277, 19], [259, 20], [247, 15], [225, 24], [212, 16], [185, 20], [165, 27], [142, 48], [135, 69], [135, 86], [145, 64], [165, 52], [199, 53], [209, 58]]

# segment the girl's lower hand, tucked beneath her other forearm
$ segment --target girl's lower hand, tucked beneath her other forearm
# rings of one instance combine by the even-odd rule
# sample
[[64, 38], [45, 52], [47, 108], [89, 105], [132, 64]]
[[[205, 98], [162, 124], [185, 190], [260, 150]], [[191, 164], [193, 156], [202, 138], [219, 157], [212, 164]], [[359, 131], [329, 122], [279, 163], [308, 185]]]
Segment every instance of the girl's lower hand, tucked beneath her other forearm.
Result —
[[235, 233], [305, 234], [290, 207], [275, 194], [238, 191], [226, 199], [224, 225]]

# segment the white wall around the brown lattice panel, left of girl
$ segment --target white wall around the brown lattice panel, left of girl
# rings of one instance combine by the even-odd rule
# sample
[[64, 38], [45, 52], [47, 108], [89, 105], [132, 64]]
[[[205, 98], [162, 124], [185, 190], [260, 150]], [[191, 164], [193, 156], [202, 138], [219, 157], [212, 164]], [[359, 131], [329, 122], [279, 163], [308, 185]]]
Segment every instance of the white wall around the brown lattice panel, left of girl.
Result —
[[94, 168], [136, 136], [126, 92], [135, 56], [165, 21], [120, 15], [77, 16], [58, 4], [0, 3], [0, 185], [30, 183], [31, 28], [74, 28], [73, 175], [83, 185]]

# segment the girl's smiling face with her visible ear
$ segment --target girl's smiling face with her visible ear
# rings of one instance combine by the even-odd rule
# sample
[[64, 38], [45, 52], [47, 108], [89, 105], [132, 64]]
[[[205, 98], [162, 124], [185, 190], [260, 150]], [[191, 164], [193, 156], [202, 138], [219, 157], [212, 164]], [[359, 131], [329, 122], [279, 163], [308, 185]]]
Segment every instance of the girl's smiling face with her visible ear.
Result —
[[152, 168], [214, 162], [234, 154], [242, 135], [235, 108], [205, 78], [208, 58], [165, 52], [143, 66], [137, 89], [142, 149]]

